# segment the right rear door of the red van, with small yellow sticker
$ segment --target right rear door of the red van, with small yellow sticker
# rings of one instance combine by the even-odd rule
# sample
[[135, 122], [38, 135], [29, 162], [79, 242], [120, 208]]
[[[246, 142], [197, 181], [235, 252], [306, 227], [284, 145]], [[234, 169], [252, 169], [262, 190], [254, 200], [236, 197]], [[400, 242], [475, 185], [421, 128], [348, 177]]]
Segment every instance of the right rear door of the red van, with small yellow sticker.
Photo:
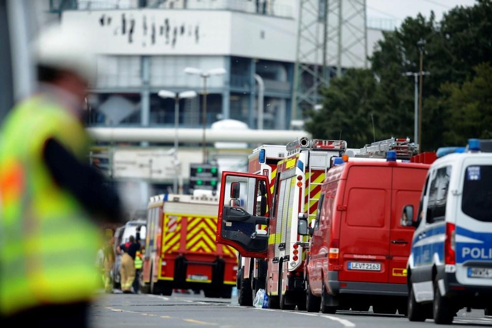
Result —
[[406, 283], [406, 262], [412, 244], [413, 227], [400, 224], [401, 209], [405, 205], [419, 208], [419, 199], [427, 175], [427, 168], [394, 167], [391, 198], [391, 231], [389, 244], [389, 282]]

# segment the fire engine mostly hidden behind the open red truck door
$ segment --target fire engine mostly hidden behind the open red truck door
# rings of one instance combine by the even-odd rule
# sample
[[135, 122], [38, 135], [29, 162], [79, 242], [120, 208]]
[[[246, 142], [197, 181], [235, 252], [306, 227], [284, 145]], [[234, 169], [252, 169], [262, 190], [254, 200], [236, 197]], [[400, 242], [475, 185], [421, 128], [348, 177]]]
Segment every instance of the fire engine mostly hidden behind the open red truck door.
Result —
[[[248, 156], [248, 173], [269, 177], [268, 187], [270, 188], [270, 194], [274, 192], [277, 163], [286, 154], [285, 146], [263, 145], [254, 149]], [[267, 230], [266, 225], [258, 226], [257, 228]], [[240, 255], [239, 264], [237, 276], [238, 302], [239, 305], [250, 306], [253, 304], [256, 292], [260, 288], [265, 289], [266, 261], [264, 258], [254, 259]]]

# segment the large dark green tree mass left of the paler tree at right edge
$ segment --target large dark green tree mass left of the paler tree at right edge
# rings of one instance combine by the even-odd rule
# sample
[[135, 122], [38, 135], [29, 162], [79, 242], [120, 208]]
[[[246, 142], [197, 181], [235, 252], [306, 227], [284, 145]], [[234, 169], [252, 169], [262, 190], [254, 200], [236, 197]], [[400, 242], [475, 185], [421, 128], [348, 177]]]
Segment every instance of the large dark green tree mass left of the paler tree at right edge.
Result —
[[449, 88], [460, 89], [478, 74], [473, 67], [492, 60], [492, 0], [455, 7], [440, 22], [433, 13], [429, 19], [407, 17], [399, 29], [383, 35], [369, 59], [370, 69], [347, 70], [321, 91], [324, 108], [308, 113], [307, 130], [314, 137], [335, 139], [342, 130], [349, 147], [362, 147], [372, 140], [372, 114], [376, 139], [413, 137], [413, 79], [402, 73], [419, 70], [417, 42], [423, 39], [424, 70], [431, 72], [423, 83], [423, 150], [454, 145], [458, 139], [452, 132], [465, 131], [450, 131], [460, 117], [453, 114]]

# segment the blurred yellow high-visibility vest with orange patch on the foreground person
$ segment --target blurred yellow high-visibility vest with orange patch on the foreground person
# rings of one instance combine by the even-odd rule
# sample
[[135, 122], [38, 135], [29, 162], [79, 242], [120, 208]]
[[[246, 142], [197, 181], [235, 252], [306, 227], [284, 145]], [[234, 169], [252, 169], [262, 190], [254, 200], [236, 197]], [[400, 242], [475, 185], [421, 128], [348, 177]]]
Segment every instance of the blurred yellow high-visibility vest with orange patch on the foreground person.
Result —
[[20, 103], [0, 132], [0, 313], [88, 300], [98, 286], [99, 235], [77, 199], [42, 160], [54, 138], [81, 161], [89, 137], [68, 110], [37, 95]]

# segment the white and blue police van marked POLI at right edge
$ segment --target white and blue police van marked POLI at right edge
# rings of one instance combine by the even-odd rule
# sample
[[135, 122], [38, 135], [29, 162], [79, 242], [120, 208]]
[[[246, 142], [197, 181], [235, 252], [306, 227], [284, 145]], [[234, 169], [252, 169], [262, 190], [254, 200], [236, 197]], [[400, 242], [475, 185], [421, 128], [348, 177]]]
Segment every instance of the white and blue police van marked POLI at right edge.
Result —
[[407, 264], [410, 321], [449, 324], [463, 307], [492, 312], [491, 145], [469, 139], [466, 148], [439, 149], [419, 208], [403, 208], [402, 225], [416, 227]]

